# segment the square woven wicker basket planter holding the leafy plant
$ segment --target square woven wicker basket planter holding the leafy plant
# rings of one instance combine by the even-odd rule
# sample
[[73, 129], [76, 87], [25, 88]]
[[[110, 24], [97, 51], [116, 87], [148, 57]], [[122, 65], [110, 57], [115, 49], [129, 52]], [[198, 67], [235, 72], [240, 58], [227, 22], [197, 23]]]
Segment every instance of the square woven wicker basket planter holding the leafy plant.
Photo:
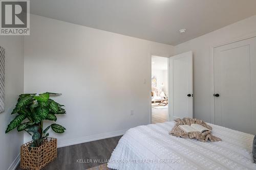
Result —
[[30, 147], [32, 141], [20, 147], [20, 167], [39, 170], [57, 157], [57, 139], [46, 138], [40, 147]]

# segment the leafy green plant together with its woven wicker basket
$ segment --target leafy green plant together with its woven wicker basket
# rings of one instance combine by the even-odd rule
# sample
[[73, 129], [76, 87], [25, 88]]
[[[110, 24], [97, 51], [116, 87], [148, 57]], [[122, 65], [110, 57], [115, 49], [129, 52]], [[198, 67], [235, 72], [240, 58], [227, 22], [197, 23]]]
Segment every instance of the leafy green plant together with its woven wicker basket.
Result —
[[20, 94], [17, 104], [11, 114], [17, 114], [8, 125], [5, 133], [14, 128], [17, 131], [26, 131], [32, 136], [32, 141], [22, 145], [20, 149], [20, 167], [26, 169], [41, 169], [57, 157], [57, 139], [49, 138], [48, 130], [63, 133], [66, 129], [58, 124], [51, 124], [44, 129], [44, 120], [56, 122], [56, 114], [65, 114], [66, 111], [50, 95], [59, 93], [46, 92], [39, 95]]

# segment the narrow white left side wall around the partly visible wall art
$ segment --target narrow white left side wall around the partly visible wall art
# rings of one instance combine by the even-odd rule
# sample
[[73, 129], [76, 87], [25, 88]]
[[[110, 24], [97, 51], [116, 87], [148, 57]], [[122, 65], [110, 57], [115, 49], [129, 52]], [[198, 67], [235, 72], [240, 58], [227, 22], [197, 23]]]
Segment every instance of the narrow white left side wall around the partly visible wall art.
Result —
[[[18, 95], [24, 91], [24, 58], [22, 36], [0, 36], [0, 46], [6, 49], [5, 58], [5, 112], [0, 113], [0, 169], [13, 167], [23, 144], [23, 133], [16, 129], [5, 134]], [[17, 159], [16, 159], [17, 161]]]

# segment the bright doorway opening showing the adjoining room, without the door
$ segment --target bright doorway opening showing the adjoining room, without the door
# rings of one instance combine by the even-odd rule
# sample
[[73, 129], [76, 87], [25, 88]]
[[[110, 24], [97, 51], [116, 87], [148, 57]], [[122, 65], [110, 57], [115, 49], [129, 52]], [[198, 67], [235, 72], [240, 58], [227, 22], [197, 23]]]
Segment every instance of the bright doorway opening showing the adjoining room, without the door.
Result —
[[151, 109], [152, 124], [168, 121], [168, 58], [152, 56], [151, 59]]

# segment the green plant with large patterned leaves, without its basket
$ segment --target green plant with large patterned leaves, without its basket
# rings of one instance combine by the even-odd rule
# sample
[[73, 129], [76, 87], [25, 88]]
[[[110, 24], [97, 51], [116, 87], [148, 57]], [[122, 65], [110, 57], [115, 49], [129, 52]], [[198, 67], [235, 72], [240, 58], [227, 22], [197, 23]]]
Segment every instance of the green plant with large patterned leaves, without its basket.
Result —
[[14, 128], [17, 128], [18, 132], [26, 131], [33, 139], [31, 147], [39, 147], [42, 141], [49, 136], [48, 130], [50, 128], [56, 133], [63, 133], [66, 129], [58, 124], [52, 124], [43, 129], [44, 120], [56, 122], [56, 114], [66, 114], [65, 109], [62, 108], [64, 105], [60, 105], [50, 99], [50, 95], [61, 94], [51, 92], [39, 95], [36, 95], [36, 93], [20, 94], [17, 104], [11, 113], [17, 114], [17, 116], [8, 125], [5, 133]]

